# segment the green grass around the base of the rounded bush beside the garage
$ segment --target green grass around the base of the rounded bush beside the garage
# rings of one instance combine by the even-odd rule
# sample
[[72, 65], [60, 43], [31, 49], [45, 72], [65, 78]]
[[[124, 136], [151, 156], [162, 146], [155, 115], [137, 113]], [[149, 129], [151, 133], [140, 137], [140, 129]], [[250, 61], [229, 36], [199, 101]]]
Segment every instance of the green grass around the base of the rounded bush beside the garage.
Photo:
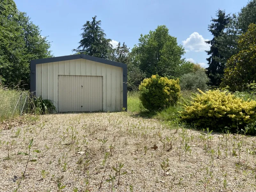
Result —
[[128, 92], [127, 108], [128, 111], [132, 112], [137, 116], [156, 118], [161, 121], [173, 121], [179, 118], [179, 111], [182, 110], [182, 104], [191, 100], [192, 94], [193, 92], [191, 91], [182, 91], [181, 97], [175, 106], [165, 108], [162, 111], [149, 112], [148, 110], [143, 108], [139, 99], [139, 92]]

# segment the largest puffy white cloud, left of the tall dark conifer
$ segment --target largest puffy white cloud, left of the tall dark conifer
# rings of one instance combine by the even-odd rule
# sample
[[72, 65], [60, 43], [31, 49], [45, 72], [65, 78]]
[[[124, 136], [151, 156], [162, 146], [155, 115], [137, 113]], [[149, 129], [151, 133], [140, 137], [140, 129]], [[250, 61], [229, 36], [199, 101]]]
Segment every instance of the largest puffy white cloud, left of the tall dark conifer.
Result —
[[194, 32], [185, 41], [182, 41], [182, 44], [187, 51], [208, 51], [210, 45], [206, 44], [204, 41], [209, 41], [209, 39], [204, 39], [202, 35]]

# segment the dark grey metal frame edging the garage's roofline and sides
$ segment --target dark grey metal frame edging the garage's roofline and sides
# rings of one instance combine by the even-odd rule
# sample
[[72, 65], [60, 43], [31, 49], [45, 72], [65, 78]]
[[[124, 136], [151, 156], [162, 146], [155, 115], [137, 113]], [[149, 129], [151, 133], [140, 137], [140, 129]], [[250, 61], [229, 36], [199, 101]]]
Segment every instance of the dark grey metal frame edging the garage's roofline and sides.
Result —
[[87, 59], [91, 61], [96, 61], [99, 63], [105, 63], [108, 65], [113, 65], [116, 67], [123, 68], [123, 108], [127, 111], [127, 65], [124, 63], [118, 63], [116, 61], [101, 59], [98, 57], [93, 57], [85, 54], [67, 55], [61, 57], [51, 57], [45, 59], [36, 59], [30, 61], [30, 92], [36, 94], [36, 65], [41, 63], [51, 63], [57, 61], [66, 61], [74, 59]]

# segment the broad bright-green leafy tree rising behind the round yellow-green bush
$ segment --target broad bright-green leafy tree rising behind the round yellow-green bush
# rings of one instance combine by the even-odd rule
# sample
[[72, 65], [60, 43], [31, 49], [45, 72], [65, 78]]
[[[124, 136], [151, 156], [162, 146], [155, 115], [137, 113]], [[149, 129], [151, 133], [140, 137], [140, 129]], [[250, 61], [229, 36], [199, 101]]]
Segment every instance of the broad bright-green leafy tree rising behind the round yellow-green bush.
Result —
[[184, 48], [177, 44], [177, 38], [169, 35], [165, 25], [158, 26], [147, 35], [140, 35], [139, 44], [132, 49], [140, 70], [147, 77], [177, 76], [177, 68], [184, 62], [181, 56]]

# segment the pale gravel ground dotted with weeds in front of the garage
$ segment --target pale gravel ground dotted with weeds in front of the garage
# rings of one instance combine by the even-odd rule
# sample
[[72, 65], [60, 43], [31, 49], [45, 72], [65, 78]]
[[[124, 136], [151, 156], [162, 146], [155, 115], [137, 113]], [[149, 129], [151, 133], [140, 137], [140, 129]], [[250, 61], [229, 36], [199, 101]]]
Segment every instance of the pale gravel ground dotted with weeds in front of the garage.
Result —
[[[37, 161], [21, 180], [28, 156], [18, 152], [28, 153], [32, 138]], [[209, 147], [206, 138], [125, 112], [43, 115], [34, 125], [0, 130], [0, 191], [19, 183], [18, 191], [55, 192], [58, 183], [63, 192], [111, 191], [106, 180], [118, 162], [127, 173], [119, 184], [117, 174], [116, 191], [256, 191], [255, 137], [212, 133]]]

